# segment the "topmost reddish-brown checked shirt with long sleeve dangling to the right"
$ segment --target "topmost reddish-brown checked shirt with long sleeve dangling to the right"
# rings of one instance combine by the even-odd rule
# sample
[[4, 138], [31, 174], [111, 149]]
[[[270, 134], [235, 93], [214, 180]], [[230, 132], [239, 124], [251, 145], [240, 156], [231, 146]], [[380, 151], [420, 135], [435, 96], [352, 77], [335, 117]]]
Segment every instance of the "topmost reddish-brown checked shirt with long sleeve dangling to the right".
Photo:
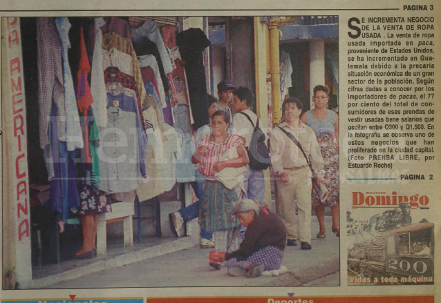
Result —
[[[121, 37], [114, 32], [109, 32], [102, 37], [102, 48], [104, 50], [110, 50], [111, 48], [117, 48], [121, 52], [125, 52], [131, 55], [132, 65], [133, 65], [133, 77], [135, 78], [138, 94], [140, 95], [140, 102], [145, 98], [145, 89], [142, 82], [140, 66], [138, 65], [138, 60], [136, 59], [135, 50], [133, 50], [133, 44], [131, 40]], [[141, 112], [142, 114], [142, 112]]]

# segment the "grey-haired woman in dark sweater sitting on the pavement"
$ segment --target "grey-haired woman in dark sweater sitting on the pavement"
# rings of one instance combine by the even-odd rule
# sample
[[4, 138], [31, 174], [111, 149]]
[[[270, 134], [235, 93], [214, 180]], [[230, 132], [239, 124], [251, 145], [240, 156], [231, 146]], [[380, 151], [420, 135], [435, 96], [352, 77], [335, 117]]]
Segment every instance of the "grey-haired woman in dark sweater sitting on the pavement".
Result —
[[280, 217], [250, 199], [242, 199], [234, 213], [247, 228], [245, 240], [238, 250], [221, 253], [218, 261], [227, 260], [228, 273], [234, 276], [256, 277], [263, 271], [279, 269], [286, 244], [285, 225]]

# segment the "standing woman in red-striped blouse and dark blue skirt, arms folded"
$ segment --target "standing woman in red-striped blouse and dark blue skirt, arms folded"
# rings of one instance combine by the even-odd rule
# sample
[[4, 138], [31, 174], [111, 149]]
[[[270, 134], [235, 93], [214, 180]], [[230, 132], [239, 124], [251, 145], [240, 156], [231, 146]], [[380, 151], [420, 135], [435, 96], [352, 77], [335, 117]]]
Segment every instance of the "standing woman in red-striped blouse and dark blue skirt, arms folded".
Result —
[[[193, 164], [199, 163], [199, 171], [206, 181], [200, 204], [200, 224], [213, 233], [214, 248], [218, 251], [237, 248], [238, 219], [234, 217], [234, 207], [244, 190], [243, 182], [229, 189], [216, 179], [215, 174], [224, 168], [241, 168], [250, 162], [243, 141], [237, 135], [227, 133], [228, 127], [229, 115], [223, 110], [216, 111], [212, 116], [212, 134], [200, 140], [191, 157]], [[222, 161], [222, 156], [232, 148], [236, 149], [238, 157]], [[220, 269], [220, 263], [210, 262], [210, 266]]]

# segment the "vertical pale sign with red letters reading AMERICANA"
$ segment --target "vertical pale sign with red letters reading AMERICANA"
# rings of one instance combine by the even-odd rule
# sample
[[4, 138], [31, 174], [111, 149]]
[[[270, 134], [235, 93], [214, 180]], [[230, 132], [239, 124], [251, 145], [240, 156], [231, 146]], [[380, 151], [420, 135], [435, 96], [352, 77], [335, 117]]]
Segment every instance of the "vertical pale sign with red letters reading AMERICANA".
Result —
[[[28, 199], [28, 150], [26, 100], [24, 95], [23, 57], [20, 20], [1, 19], [2, 28], [2, 119], [3, 119], [3, 269], [15, 268], [22, 286], [31, 279], [30, 205]], [[12, 226], [14, 229], [12, 230]], [[7, 233], [7, 235], [5, 235]], [[7, 241], [7, 243], [5, 243]]]

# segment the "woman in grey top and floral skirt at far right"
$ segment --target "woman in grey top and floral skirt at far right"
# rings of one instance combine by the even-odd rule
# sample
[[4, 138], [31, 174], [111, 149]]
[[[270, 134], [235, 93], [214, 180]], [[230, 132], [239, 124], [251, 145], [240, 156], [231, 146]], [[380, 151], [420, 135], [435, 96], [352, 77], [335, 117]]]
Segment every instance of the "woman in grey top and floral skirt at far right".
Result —
[[328, 110], [328, 86], [318, 85], [314, 88], [315, 108], [301, 116], [301, 121], [314, 130], [325, 162], [325, 185], [330, 193], [326, 202], [321, 202], [317, 193], [312, 192], [312, 207], [319, 219], [318, 238], [326, 237], [325, 207], [330, 206], [332, 213], [332, 232], [340, 236], [339, 229], [339, 120], [337, 113]]

